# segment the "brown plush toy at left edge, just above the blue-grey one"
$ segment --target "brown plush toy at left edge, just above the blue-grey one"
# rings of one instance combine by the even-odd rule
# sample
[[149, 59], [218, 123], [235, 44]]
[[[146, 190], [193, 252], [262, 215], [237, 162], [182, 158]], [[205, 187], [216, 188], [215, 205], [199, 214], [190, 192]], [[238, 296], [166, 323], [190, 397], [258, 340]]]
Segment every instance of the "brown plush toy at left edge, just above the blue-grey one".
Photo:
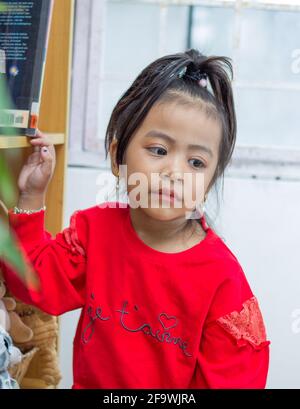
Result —
[[5, 284], [0, 280], [0, 325], [10, 334], [14, 343], [30, 341], [33, 337], [32, 329], [25, 325], [15, 312], [15, 299], [5, 297], [5, 294]]

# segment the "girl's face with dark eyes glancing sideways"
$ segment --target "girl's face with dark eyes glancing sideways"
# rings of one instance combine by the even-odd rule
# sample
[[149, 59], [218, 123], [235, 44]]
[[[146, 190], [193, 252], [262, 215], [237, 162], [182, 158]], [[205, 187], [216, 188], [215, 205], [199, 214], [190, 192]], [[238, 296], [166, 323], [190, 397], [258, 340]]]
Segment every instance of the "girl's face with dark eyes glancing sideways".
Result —
[[155, 104], [125, 151], [130, 204], [143, 199], [143, 211], [157, 220], [186, 217], [203, 202], [214, 176], [221, 132], [196, 105]]

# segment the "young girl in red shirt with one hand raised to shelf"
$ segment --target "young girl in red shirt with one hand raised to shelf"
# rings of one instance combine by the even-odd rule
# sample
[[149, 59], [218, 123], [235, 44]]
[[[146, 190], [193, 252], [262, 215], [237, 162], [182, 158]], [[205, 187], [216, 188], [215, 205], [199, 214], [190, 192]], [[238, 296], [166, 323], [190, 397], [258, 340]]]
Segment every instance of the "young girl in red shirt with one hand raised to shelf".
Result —
[[[116, 104], [106, 155], [116, 177], [120, 165], [128, 181], [143, 175], [139, 198], [147, 197], [148, 206], [136, 206], [128, 182], [129, 203], [78, 210], [51, 237], [44, 200], [55, 151], [41, 132], [30, 139], [35, 151], [21, 171], [9, 223], [40, 289], [8, 266], [4, 275], [16, 297], [49, 314], [82, 308], [73, 388], [265, 387], [270, 342], [257, 299], [203, 213], [236, 139], [228, 68], [232, 76], [228, 58], [194, 49], [167, 55], [147, 66]], [[196, 206], [186, 204], [184, 196], [199, 190]], [[151, 205], [155, 198], [158, 206]], [[195, 210], [198, 219], [187, 217]]]

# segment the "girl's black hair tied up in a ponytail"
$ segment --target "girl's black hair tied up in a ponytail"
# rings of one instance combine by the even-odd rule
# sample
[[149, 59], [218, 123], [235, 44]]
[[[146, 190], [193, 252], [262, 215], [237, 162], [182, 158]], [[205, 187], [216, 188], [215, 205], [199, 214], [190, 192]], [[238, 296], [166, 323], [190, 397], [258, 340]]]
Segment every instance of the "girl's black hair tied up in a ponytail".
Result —
[[[184, 74], [180, 77], [180, 72]], [[229, 73], [228, 73], [229, 71]], [[199, 86], [199, 73], [205, 73], [211, 91]], [[230, 75], [229, 75], [230, 74]], [[222, 125], [218, 164], [209, 189], [223, 176], [236, 141], [236, 115], [231, 80], [231, 60], [224, 56], [205, 56], [196, 49], [158, 58], [146, 66], [115, 105], [105, 135], [106, 158], [110, 144], [118, 141], [116, 161], [123, 162], [131, 137], [158, 102], [201, 103], [208, 116]], [[223, 182], [223, 180], [222, 180]]]

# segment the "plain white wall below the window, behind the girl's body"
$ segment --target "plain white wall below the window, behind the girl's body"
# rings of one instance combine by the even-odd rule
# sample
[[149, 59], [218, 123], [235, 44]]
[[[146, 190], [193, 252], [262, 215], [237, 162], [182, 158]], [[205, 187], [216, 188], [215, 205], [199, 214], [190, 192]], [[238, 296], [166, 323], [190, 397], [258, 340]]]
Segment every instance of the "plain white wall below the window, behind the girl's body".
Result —
[[[96, 204], [99, 170], [68, 169], [65, 225]], [[300, 182], [227, 177], [216, 228], [238, 257], [271, 340], [268, 388], [300, 388]], [[79, 312], [61, 317], [62, 388], [72, 385], [72, 341]], [[300, 313], [298, 315], [300, 317]], [[294, 323], [294, 326], [293, 326]]]

